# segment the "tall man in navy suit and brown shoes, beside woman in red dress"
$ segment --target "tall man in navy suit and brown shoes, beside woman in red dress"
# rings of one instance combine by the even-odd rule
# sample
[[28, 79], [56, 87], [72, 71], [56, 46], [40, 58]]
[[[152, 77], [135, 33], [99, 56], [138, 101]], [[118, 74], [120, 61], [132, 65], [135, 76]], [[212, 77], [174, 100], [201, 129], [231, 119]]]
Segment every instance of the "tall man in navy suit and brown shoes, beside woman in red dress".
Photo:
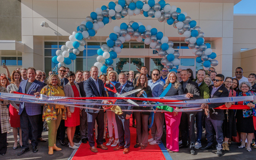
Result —
[[[84, 82], [84, 91], [86, 97], [107, 97], [107, 93], [104, 88], [104, 83], [98, 78], [99, 70], [97, 66], [92, 66], [90, 70], [91, 77]], [[102, 100], [89, 100], [91, 102], [102, 102]], [[106, 103], [106, 101], [105, 101]], [[102, 109], [100, 105], [86, 105], [86, 107]], [[86, 109], [87, 121], [88, 121], [88, 139], [89, 145], [92, 152], [98, 152], [97, 148], [105, 149], [108, 148], [103, 145], [103, 134], [104, 134], [104, 111], [103, 110], [90, 110]], [[94, 147], [94, 125], [95, 120], [98, 124], [98, 137], [97, 137], [97, 148]]]

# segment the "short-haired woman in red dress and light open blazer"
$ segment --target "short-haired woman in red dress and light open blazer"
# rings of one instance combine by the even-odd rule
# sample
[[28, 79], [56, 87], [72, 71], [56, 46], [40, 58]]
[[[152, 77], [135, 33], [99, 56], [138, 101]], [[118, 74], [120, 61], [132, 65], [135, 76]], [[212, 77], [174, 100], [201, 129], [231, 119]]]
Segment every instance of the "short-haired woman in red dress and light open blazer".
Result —
[[[81, 97], [79, 86], [75, 83], [75, 73], [68, 72], [68, 84], [64, 87], [66, 97]], [[69, 140], [69, 148], [78, 149], [78, 143], [73, 142], [76, 126], [80, 125], [80, 108], [67, 106], [67, 120], [65, 126], [67, 127], [67, 135]]]

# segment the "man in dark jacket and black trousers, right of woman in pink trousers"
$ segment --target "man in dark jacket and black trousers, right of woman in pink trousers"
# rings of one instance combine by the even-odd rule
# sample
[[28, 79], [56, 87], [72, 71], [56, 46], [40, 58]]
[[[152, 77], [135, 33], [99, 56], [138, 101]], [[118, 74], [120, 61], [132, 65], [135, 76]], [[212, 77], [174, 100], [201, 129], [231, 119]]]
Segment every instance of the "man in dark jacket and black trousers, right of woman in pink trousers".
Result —
[[[189, 73], [187, 70], [182, 70], [180, 72], [182, 81], [180, 82], [184, 93], [186, 94], [187, 98], [190, 99], [200, 99], [200, 91], [196, 82], [191, 81], [188, 77]], [[195, 155], [195, 116], [197, 112], [182, 112], [181, 114], [181, 121], [180, 121], [180, 130], [181, 132], [181, 139], [182, 147], [188, 147], [188, 135], [189, 135], [189, 144], [190, 144], [190, 154]]]

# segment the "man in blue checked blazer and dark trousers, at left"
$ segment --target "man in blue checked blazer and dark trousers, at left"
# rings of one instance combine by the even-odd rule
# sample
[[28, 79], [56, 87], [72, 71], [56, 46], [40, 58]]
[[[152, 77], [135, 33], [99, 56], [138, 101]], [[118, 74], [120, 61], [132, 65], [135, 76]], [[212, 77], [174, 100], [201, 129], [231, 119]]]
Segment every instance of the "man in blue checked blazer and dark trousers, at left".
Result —
[[[40, 95], [41, 89], [44, 84], [36, 80], [36, 70], [33, 67], [27, 70], [28, 80], [23, 80], [20, 82], [20, 87], [18, 92], [28, 95]], [[20, 115], [20, 128], [22, 130], [22, 150], [18, 155], [23, 155], [29, 151], [29, 127], [31, 129], [32, 140], [31, 144], [33, 146], [33, 152], [36, 153], [37, 149], [37, 136], [38, 136], [38, 123], [39, 116], [42, 114], [41, 104], [35, 103], [20, 103], [19, 115]]]

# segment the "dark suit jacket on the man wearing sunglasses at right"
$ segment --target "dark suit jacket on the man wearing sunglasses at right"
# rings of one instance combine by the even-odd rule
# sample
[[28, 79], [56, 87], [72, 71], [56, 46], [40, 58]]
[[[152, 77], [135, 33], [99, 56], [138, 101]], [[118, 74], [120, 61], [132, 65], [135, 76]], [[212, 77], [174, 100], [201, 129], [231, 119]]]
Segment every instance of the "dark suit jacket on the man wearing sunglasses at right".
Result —
[[[213, 87], [214, 87], [213, 85], [209, 86], [211, 98], [220, 98], [220, 97], [228, 97], [229, 96], [228, 89], [223, 85], [221, 85], [220, 88], [218, 88], [212, 96], [211, 92], [212, 92]], [[213, 120], [225, 120], [225, 115], [224, 115], [223, 110], [213, 109], [215, 107], [219, 107], [219, 106], [222, 106], [224, 104], [225, 103], [209, 104], [209, 111], [210, 111], [211, 119], [213, 119]]]

